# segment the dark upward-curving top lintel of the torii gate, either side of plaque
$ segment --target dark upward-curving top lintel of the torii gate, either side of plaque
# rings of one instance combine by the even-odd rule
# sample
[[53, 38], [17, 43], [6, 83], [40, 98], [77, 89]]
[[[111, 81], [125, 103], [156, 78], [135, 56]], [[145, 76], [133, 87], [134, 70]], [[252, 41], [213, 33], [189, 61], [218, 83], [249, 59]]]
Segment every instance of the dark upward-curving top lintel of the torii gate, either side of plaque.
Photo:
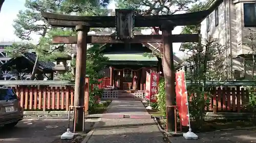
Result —
[[[195, 25], [200, 23], [222, 1], [217, 0], [209, 9], [198, 12], [174, 15], [135, 16], [134, 26], [154, 27], [161, 26], [162, 24], [172, 24], [173, 26]], [[76, 25], [86, 25], [89, 27], [116, 27], [115, 16], [73, 16], [48, 12], [42, 12], [41, 14], [52, 26], [75, 27]]]

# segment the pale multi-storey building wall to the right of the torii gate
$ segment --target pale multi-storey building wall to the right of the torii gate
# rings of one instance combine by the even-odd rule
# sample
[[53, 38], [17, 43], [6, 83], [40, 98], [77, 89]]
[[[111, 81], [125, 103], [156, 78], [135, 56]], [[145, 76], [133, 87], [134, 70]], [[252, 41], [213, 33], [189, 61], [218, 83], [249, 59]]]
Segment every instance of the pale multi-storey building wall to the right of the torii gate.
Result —
[[232, 55], [227, 63], [234, 78], [251, 79], [252, 68], [245, 64], [251, 60], [245, 57], [251, 55], [252, 50], [244, 43], [247, 42], [248, 29], [256, 31], [255, 0], [213, 0], [210, 3], [216, 1], [220, 2], [218, 7], [201, 22], [202, 38], [212, 36], [226, 47], [227, 54]]

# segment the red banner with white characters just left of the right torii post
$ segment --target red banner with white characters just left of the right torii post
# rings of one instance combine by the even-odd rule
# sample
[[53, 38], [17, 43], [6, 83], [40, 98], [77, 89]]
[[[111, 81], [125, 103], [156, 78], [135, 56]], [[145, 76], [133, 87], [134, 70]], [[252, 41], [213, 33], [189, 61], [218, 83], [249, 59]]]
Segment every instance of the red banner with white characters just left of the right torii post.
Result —
[[157, 102], [157, 93], [158, 93], [158, 85], [159, 85], [159, 73], [151, 72], [150, 74], [151, 81], [151, 96], [150, 102]]

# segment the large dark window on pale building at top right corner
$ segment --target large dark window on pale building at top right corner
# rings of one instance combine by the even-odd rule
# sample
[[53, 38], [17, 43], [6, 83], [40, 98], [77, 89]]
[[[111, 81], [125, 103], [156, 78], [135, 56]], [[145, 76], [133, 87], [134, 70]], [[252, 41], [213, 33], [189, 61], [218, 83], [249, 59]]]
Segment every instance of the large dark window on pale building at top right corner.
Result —
[[244, 26], [256, 27], [256, 5], [254, 3], [244, 4]]

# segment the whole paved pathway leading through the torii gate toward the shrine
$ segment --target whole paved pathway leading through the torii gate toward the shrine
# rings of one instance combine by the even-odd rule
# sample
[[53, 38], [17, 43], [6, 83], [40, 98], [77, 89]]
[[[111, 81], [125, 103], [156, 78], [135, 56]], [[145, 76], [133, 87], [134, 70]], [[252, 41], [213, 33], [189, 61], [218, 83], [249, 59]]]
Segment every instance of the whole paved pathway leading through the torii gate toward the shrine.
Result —
[[[148, 115], [140, 101], [114, 100], [106, 114]], [[89, 140], [83, 143], [164, 143], [163, 134], [153, 119], [102, 118]]]

